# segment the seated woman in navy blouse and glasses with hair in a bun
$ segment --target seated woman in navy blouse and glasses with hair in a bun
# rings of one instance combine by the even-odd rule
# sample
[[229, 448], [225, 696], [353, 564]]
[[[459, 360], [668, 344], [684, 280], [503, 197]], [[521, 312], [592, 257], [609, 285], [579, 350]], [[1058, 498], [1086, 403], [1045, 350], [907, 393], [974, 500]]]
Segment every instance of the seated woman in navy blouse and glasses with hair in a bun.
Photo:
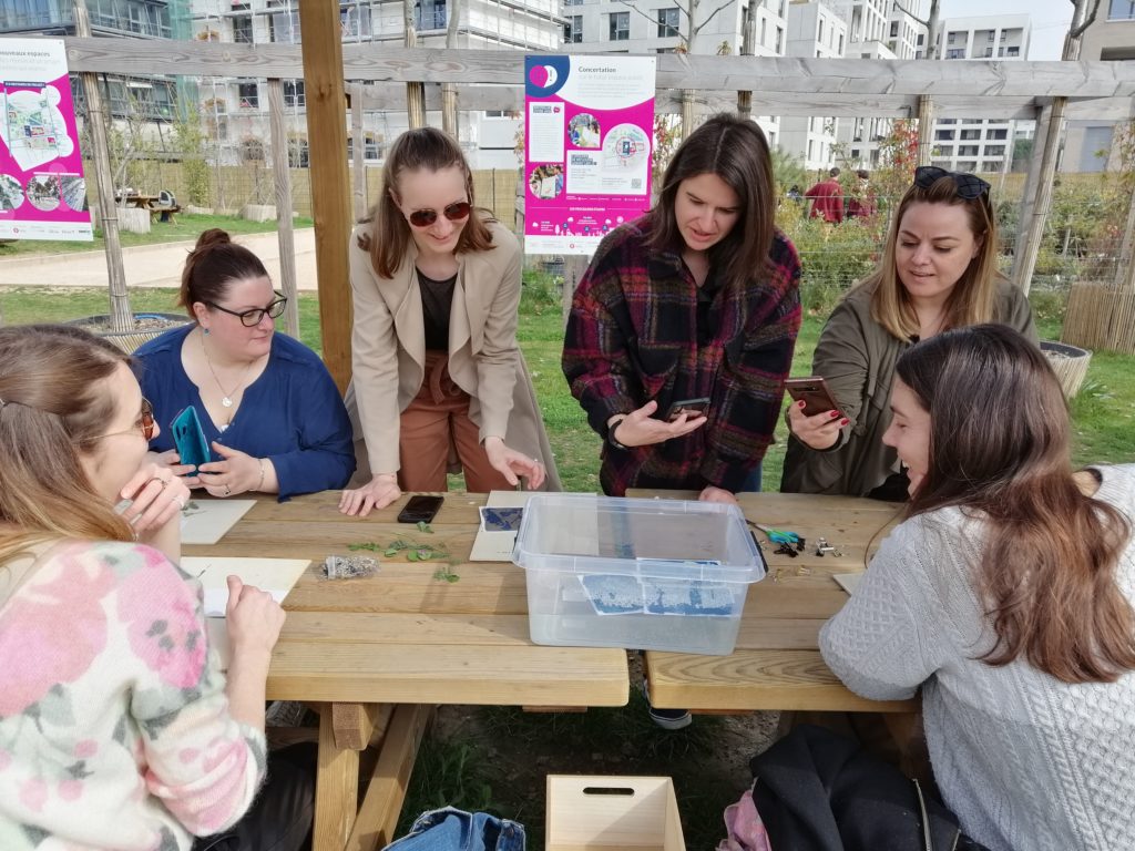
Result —
[[275, 332], [287, 300], [260, 259], [224, 230], [204, 231], [178, 303], [194, 322], [138, 348], [142, 389], [162, 424], [193, 405], [213, 460], [182, 464], [167, 429], [151, 445], [161, 462], [217, 497], [346, 485], [354, 453], [343, 399], [314, 352]]

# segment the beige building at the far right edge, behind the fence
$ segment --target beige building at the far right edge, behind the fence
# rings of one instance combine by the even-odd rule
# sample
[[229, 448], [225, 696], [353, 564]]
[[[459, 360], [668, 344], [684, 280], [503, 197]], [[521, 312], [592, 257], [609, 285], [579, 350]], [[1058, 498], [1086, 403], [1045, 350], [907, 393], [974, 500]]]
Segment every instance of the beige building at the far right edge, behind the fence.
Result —
[[[1079, 58], [1116, 61], [1135, 59], [1135, 0], [1103, 0], [1095, 20], [1084, 32]], [[1129, 119], [1128, 119], [1129, 120]], [[1081, 119], [1068, 121], [1063, 171], [1103, 171], [1116, 163], [1112, 144], [1116, 121]]]

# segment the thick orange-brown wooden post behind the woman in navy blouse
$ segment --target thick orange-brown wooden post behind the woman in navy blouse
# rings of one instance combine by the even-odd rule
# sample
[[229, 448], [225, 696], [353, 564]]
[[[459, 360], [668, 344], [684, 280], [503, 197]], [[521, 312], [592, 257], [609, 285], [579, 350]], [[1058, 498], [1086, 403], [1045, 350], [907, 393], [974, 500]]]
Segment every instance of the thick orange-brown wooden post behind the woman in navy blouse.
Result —
[[[338, 3], [300, 0], [303, 78], [311, 151], [311, 210], [316, 220], [316, 276], [323, 363], [339, 391], [351, 380], [351, 182], [343, 93], [343, 43]], [[318, 187], [318, 188], [317, 188]]]

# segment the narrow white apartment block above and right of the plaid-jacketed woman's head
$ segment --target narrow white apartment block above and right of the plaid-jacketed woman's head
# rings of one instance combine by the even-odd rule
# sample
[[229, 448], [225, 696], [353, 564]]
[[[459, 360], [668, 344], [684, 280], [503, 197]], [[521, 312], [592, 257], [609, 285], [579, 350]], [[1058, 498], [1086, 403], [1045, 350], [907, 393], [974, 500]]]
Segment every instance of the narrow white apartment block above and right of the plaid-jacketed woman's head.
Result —
[[[838, 59], [848, 47], [848, 23], [833, 0], [793, 0], [788, 7], [785, 56]], [[835, 142], [842, 121], [834, 116], [784, 116], [781, 149], [799, 157], [809, 171], [835, 162]]]

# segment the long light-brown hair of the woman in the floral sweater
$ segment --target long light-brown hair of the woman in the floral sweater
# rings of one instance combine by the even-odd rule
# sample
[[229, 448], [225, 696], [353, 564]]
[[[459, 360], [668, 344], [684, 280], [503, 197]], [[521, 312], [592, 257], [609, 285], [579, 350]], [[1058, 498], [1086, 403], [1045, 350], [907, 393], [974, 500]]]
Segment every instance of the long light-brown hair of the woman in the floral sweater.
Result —
[[0, 328], [0, 565], [51, 538], [133, 539], [79, 463], [116, 413], [101, 382], [119, 363], [77, 328]]

